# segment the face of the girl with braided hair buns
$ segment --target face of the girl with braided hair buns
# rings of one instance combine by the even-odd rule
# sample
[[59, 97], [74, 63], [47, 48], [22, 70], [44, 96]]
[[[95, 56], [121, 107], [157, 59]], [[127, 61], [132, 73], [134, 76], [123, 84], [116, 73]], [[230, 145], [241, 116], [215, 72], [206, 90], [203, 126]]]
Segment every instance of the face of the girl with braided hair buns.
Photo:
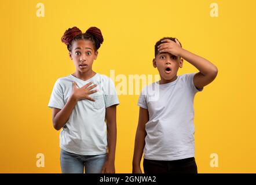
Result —
[[93, 61], [96, 60], [98, 51], [94, 51], [91, 40], [76, 40], [72, 44], [70, 58], [74, 61], [76, 71], [86, 73], [92, 71]]

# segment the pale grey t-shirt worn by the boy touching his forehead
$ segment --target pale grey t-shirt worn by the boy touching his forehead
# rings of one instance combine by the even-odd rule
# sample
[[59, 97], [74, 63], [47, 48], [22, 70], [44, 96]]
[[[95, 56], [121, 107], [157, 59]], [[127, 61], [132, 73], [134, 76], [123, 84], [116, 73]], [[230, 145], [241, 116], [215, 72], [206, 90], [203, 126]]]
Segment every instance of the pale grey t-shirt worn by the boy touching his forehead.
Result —
[[194, 75], [181, 75], [173, 82], [155, 82], [143, 88], [138, 106], [149, 112], [145, 159], [172, 161], [195, 156], [193, 99], [203, 88], [195, 87]]

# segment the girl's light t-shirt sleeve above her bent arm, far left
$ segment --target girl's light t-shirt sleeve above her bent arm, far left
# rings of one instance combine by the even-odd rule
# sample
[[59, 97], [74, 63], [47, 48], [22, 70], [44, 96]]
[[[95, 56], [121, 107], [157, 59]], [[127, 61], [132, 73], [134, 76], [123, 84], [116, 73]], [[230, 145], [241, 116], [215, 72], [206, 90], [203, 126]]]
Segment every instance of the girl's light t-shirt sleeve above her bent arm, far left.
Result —
[[48, 103], [49, 108], [64, 108], [64, 98], [63, 98], [63, 88], [61, 87], [60, 80], [57, 80], [54, 84], [52, 94], [50, 96], [50, 101]]

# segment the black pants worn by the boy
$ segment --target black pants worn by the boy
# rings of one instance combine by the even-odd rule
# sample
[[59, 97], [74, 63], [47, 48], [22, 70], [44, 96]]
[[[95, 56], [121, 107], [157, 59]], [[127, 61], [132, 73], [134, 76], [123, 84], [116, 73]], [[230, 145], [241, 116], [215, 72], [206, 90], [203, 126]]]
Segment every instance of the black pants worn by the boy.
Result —
[[143, 161], [144, 173], [198, 173], [194, 157], [174, 161]]

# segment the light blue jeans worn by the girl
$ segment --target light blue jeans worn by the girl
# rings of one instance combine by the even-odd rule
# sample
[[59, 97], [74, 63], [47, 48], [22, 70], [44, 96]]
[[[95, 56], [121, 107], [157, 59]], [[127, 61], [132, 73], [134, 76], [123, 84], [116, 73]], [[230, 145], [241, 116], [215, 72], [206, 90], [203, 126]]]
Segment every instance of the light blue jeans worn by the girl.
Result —
[[60, 166], [62, 173], [101, 173], [107, 160], [107, 154], [83, 156], [60, 150]]

